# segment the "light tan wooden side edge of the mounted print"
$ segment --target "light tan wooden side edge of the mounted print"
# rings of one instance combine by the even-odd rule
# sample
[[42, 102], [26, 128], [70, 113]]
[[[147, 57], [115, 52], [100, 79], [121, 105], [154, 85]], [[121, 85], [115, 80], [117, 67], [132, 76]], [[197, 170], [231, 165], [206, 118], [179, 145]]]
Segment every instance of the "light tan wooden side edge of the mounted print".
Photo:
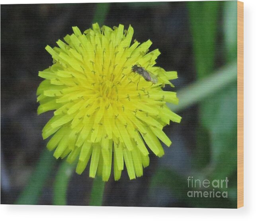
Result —
[[244, 3], [237, 1], [237, 208], [244, 206]]

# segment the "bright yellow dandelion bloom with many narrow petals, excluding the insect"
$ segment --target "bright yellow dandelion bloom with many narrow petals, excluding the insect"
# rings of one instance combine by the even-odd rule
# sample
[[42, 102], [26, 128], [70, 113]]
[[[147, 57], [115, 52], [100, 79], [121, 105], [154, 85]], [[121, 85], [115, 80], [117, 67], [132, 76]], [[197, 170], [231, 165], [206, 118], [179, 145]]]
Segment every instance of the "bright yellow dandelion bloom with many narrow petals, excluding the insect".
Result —
[[[37, 89], [38, 114], [54, 110], [43, 128], [43, 139], [51, 136], [47, 148], [54, 157], [78, 161], [81, 174], [90, 160], [90, 177], [107, 181], [113, 171], [119, 180], [126, 167], [129, 178], [143, 175], [149, 165], [149, 151], [161, 157], [159, 140], [170, 146], [162, 128], [181, 117], [166, 106], [178, 104], [176, 93], [163, 91], [177, 72], [154, 66], [159, 50], [149, 52], [150, 40], [132, 42], [133, 28], [93, 24], [92, 29], [57, 41], [59, 47], [46, 47], [53, 65], [39, 72], [44, 78]], [[157, 83], [147, 81], [132, 66], [152, 73]], [[158, 140], [159, 139], [159, 140]], [[146, 143], [146, 144], [145, 144]]]

